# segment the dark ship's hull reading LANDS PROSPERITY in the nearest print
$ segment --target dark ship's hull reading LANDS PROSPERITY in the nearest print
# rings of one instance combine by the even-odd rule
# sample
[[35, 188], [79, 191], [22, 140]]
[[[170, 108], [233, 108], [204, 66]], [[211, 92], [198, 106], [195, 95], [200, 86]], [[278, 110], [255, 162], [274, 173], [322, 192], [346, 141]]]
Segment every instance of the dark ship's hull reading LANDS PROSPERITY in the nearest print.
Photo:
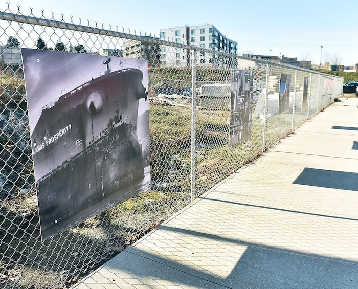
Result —
[[31, 136], [42, 239], [148, 189], [137, 135], [142, 78], [109, 73], [44, 107]]

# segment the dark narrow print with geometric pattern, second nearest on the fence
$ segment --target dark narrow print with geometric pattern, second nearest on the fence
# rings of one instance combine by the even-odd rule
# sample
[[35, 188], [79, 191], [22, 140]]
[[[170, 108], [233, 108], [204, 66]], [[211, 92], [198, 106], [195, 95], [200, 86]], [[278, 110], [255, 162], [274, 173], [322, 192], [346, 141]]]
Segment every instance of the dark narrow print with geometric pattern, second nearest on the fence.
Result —
[[253, 71], [232, 70], [230, 148], [249, 141], [252, 126]]

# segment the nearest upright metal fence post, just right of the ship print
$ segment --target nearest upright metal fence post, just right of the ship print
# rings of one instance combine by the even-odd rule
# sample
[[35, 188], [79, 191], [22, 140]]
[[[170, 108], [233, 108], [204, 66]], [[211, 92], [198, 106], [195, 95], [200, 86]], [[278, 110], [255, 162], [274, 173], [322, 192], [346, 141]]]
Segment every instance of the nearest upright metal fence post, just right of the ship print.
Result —
[[190, 179], [190, 202], [195, 196], [195, 117], [196, 117], [196, 50], [192, 51], [192, 95], [191, 95], [191, 179]]

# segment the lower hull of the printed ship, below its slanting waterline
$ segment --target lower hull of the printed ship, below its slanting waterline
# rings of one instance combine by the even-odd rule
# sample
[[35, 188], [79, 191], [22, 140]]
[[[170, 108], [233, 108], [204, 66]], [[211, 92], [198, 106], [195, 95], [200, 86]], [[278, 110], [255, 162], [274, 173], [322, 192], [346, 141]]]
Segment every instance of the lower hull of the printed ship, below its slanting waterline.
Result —
[[114, 129], [37, 182], [43, 237], [52, 236], [145, 189], [138, 140]]

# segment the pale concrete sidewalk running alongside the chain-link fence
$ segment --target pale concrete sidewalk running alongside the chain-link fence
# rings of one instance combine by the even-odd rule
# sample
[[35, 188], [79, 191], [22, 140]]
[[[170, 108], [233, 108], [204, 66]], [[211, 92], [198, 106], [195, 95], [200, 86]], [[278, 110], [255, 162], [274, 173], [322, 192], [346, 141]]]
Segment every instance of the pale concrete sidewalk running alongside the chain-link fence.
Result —
[[75, 288], [358, 288], [358, 98], [341, 98]]

